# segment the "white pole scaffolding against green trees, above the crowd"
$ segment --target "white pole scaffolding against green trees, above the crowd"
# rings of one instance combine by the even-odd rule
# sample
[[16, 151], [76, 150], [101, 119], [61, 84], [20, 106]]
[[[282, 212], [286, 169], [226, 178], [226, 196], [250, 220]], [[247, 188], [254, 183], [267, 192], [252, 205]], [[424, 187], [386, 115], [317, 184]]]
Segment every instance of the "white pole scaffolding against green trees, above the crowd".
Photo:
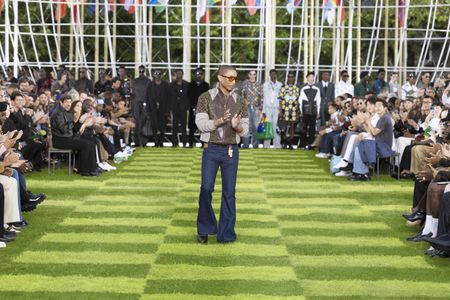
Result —
[[[196, 18], [202, 2], [209, 5], [206, 23]], [[261, 80], [272, 68], [331, 70], [335, 78], [342, 69], [356, 77], [385, 68], [406, 78], [424, 70], [439, 76], [448, 68], [450, 0], [338, 0], [342, 7], [333, 8], [331, 23], [323, 16], [327, 1], [300, 1], [292, 14], [287, 2], [260, 0], [250, 16], [244, 0], [4, 0], [0, 67], [12, 66], [17, 75], [22, 66], [64, 64], [96, 74], [100, 67], [137, 70], [142, 64], [167, 74], [183, 69], [189, 79], [196, 67], [209, 77], [230, 63], [257, 70]], [[408, 23], [414, 13], [426, 15], [417, 28]], [[446, 18], [442, 28], [438, 16]], [[410, 52], [413, 45], [420, 53]], [[242, 55], [249, 49], [254, 53]]]

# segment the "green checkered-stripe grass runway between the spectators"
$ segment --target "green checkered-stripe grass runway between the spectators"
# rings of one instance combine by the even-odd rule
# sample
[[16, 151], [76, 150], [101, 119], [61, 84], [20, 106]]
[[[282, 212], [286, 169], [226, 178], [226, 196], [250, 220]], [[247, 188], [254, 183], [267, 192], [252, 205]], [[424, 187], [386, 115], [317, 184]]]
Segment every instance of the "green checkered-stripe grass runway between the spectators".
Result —
[[48, 199], [0, 249], [0, 299], [448, 299], [450, 260], [405, 241], [412, 182], [241, 150], [238, 241], [199, 245], [200, 164], [199, 149], [139, 149], [99, 178], [30, 175]]

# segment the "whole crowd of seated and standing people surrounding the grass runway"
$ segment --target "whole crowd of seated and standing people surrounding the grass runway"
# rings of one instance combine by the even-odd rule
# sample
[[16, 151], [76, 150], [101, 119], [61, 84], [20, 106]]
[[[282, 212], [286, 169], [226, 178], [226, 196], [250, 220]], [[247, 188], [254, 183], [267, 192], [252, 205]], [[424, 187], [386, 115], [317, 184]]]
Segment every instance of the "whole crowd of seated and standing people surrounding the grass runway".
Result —
[[[195, 70], [192, 82], [184, 80], [182, 70], [170, 74], [170, 82], [161, 69], [149, 74], [140, 66], [136, 78], [124, 67], [117, 71], [112, 76], [101, 69], [94, 81], [83, 67], [77, 75], [64, 66], [55, 73], [23, 68], [18, 78], [7, 68], [0, 88], [0, 215], [5, 224], [0, 246], [26, 227], [20, 212], [33, 210], [45, 198], [27, 191], [24, 173], [40, 171], [49, 148], [73, 150], [74, 170], [98, 176], [114, 170], [112, 161], [126, 159], [132, 147], [197, 145], [197, 100], [210, 88], [202, 68]], [[362, 72], [354, 85], [345, 70], [335, 83], [327, 71], [320, 80], [312, 72], [304, 74], [302, 84], [296, 72], [286, 74], [286, 83], [277, 70], [269, 73], [265, 83], [250, 71], [237, 84], [250, 125], [240, 146], [316, 149], [317, 157], [330, 159], [335, 176], [353, 181], [370, 180], [376, 161], [390, 158], [397, 172], [393, 177], [414, 180], [412, 210], [404, 217], [424, 228], [410, 240], [428, 240], [433, 246], [427, 254], [447, 256], [450, 73], [434, 82], [429, 72], [419, 78], [411, 73], [401, 84], [399, 74], [387, 76], [381, 69], [375, 80]], [[262, 119], [273, 126], [270, 139], [257, 139]], [[447, 248], [440, 246], [442, 240]]]

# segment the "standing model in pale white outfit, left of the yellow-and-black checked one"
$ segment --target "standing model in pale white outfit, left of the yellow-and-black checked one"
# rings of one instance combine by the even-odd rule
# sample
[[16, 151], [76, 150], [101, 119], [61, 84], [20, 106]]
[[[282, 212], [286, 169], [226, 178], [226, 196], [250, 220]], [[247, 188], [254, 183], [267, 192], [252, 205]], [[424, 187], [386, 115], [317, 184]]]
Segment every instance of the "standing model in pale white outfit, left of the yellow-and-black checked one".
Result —
[[[273, 147], [276, 149], [281, 148], [280, 135], [277, 132], [278, 125], [278, 112], [280, 108], [280, 102], [278, 100], [278, 93], [282, 87], [282, 83], [277, 80], [277, 70], [272, 69], [269, 72], [270, 81], [264, 83], [264, 101], [263, 101], [263, 113], [266, 114], [267, 122], [272, 122], [273, 128]], [[270, 140], [264, 141], [264, 148], [270, 147]]]

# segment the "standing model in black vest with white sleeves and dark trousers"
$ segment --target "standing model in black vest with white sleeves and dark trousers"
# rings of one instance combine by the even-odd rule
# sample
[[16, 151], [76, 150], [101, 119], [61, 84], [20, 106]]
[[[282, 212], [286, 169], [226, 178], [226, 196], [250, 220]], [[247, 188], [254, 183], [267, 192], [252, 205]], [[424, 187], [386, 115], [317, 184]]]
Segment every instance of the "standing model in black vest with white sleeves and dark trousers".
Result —
[[316, 133], [316, 122], [320, 119], [320, 90], [314, 85], [315, 74], [306, 75], [307, 84], [300, 90], [298, 98], [300, 113], [303, 119], [303, 132], [300, 137], [300, 147], [310, 149]]

